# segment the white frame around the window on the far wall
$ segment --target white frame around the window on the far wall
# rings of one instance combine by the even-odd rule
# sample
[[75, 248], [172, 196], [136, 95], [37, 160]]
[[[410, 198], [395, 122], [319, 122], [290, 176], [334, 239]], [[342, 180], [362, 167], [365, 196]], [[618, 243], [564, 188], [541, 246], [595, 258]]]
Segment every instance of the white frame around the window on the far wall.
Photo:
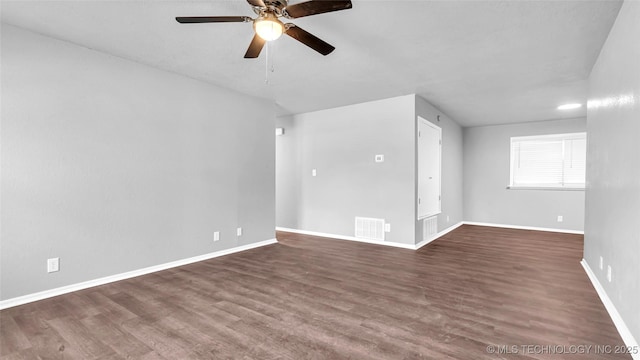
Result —
[[[532, 185], [514, 185], [514, 142], [530, 140], [530, 141], [544, 141], [544, 140], [558, 140], [562, 141], [563, 146], [563, 167], [565, 154], [565, 146], [567, 140], [573, 139], [584, 139], [585, 143], [587, 141], [587, 133], [586, 132], [575, 132], [575, 133], [561, 133], [561, 134], [546, 134], [546, 135], [527, 135], [527, 136], [512, 136], [509, 141], [509, 185], [507, 189], [510, 190], [570, 190], [570, 191], [584, 191], [586, 187], [586, 174], [585, 181], [582, 184], [570, 183], [569, 185], [565, 184], [564, 173], [562, 175], [561, 184], [532, 184]], [[586, 171], [586, 148], [585, 148], [585, 171]]]

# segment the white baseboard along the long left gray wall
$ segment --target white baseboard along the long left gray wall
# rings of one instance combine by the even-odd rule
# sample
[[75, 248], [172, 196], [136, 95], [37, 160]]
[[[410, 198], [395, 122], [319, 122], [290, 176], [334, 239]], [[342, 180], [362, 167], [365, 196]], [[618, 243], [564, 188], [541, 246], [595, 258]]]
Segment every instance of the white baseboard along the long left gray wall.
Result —
[[220, 250], [220, 251], [216, 251], [216, 252], [212, 252], [212, 253], [208, 253], [208, 254], [204, 254], [204, 255], [198, 255], [198, 256], [194, 256], [194, 257], [188, 258], [188, 259], [176, 260], [176, 261], [172, 261], [172, 262], [168, 262], [168, 263], [164, 263], [164, 264], [160, 264], [160, 265], [154, 265], [154, 266], [146, 267], [146, 268], [143, 268], [143, 269], [128, 271], [128, 272], [121, 273], [121, 274], [106, 276], [106, 277], [99, 278], [99, 279], [84, 281], [84, 282], [81, 282], [81, 283], [62, 286], [62, 287], [51, 289], [51, 290], [40, 291], [40, 292], [37, 292], [37, 293], [34, 293], [34, 294], [29, 294], [29, 295], [19, 296], [19, 297], [7, 299], [7, 300], [2, 300], [2, 301], [0, 301], [0, 310], [6, 309], [6, 308], [10, 308], [10, 307], [14, 307], [14, 306], [18, 306], [18, 305], [27, 304], [27, 303], [38, 301], [38, 300], [47, 299], [47, 298], [58, 296], [58, 295], [67, 294], [67, 293], [78, 291], [78, 290], [84, 290], [84, 289], [87, 289], [87, 288], [90, 288], [90, 287], [94, 287], [94, 286], [99, 286], [99, 285], [112, 283], [112, 282], [115, 282], [115, 281], [125, 280], [125, 279], [129, 279], [129, 278], [132, 278], [132, 277], [140, 276], [140, 275], [146, 275], [146, 274], [150, 274], [150, 273], [153, 273], [153, 272], [156, 272], [156, 271], [161, 271], [161, 270], [166, 270], [166, 269], [170, 269], [170, 268], [174, 268], [174, 267], [178, 267], [178, 266], [183, 266], [183, 265], [191, 264], [191, 263], [198, 262], [198, 261], [209, 260], [209, 259], [213, 259], [213, 258], [216, 258], [216, 257], [229, 255], [229, 254], [233, 254], [233, 253], [237, 253], [237, 252], [240, 252], [240, 251], [245, 251], [245, 250], [249, 250], [249, 249], [253, 249], [253, 248], [257, 248], [257, 247], [261, 247], [261, 246], [265, 246], [265, 245], [271, 245], [271, 244], [275, 244], [277, 242], [278, 242], [278, 240], [276, 240], [276, 239], [264, 240], [264, 241], [260, 241], [260, 242], [253, 243], [253, 244], [236, 246], [236, 247], [231, 248], [231, 249], [225, 249], [225, 250]]

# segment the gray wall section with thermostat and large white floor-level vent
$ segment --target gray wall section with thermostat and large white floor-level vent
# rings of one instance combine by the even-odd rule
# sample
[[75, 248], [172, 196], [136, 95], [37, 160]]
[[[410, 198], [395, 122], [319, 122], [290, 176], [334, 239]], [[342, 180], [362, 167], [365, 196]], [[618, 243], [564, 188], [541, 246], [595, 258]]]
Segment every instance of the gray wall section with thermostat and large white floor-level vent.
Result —
[[277, 119], [276, 224], [354, 236], [356, 216], [382, 218], [387, 241], [414, 244], [414, 104], [407, 95]]

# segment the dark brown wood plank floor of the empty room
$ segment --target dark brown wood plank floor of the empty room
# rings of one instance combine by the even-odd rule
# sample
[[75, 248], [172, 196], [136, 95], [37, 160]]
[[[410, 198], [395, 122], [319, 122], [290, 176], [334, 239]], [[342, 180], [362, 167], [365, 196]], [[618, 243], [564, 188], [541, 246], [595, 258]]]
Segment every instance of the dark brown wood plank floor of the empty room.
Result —
[[[418, 251], [277, 235], [3, 310], [0, 357], [631, 358], [523, 354], [623, 344], [579, 264], [580, 235], [465, 225]], [[511, 353], [489, 353], [494, 345]]]

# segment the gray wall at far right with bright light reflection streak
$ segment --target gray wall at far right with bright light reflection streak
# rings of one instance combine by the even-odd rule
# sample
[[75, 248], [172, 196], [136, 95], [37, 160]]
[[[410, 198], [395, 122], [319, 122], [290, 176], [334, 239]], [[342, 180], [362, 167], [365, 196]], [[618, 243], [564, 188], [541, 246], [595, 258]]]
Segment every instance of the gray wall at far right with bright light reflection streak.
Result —
[[[640, 2], [625, 1], [589, 79], [584, 244], [584, 259], [636, 341], [640, 341], [639, 19]], [[612, 267], [610, 283], [607, 265]]]

